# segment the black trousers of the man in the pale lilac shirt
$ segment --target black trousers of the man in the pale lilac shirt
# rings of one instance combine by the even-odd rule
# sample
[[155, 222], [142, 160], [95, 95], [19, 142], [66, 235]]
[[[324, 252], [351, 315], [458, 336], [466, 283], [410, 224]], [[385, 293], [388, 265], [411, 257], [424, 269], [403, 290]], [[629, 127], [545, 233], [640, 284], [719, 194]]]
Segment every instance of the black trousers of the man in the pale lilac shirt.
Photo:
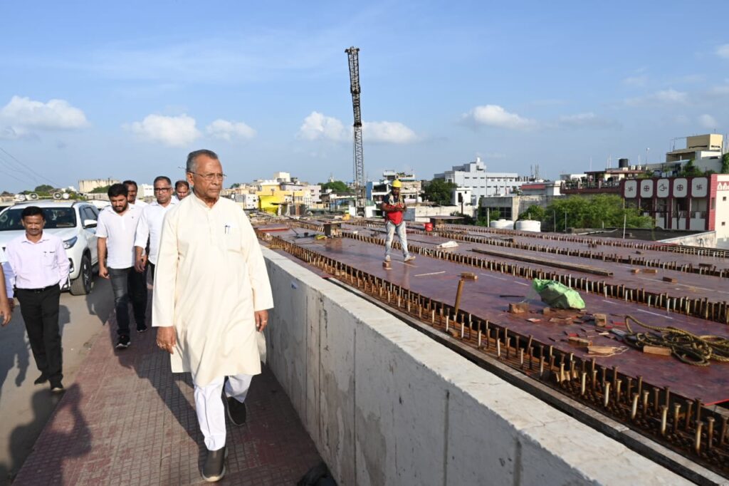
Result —
[[61, 332], [58, 328], [58, 303], [61, 288], [51, 285], [42, 290], [16, 289], [15, 296], [20, 302], [20, 315], [26, 323], [28, 340], [36, 360], [36, 366], [51, 385], [58, 385], [63, 379], [61, 367]]

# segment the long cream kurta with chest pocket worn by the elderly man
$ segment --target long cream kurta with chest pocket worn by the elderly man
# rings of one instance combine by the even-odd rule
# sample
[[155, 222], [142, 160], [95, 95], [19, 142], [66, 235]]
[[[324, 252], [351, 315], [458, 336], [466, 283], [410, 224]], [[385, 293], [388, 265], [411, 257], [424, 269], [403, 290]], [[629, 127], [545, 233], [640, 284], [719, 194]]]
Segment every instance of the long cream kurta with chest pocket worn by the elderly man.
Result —
[[165, 215], [155, 269], [152, 325], [174, 325], [172, 371], [200, 387], [260, 374], [254, 311], [273, 307], [258, 239], [241, 207], [195, 195]]

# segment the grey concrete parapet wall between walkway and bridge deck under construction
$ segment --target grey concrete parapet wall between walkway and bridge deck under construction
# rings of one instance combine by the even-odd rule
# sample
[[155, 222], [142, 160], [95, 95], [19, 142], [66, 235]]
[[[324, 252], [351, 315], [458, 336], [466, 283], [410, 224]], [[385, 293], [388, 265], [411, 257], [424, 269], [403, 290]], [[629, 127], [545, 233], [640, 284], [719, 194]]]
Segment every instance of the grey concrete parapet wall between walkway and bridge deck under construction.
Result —
[[690, 484], [264, 249], [268, 365], [340, 485]]

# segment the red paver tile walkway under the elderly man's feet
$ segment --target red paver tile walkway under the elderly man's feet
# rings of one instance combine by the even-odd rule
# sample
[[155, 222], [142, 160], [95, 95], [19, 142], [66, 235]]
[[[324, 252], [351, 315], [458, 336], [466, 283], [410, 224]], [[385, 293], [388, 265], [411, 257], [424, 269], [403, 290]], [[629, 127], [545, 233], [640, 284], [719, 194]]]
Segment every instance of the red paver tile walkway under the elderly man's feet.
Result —
[[[171, 374], [155, 333], [135, 333], [121, 351], [115, 336], [98, 336], [13, 485], [207, 484], [190, 375]], [[296, 484], [321, 458], [268, 368], [246, 404], [246, 425], [228, 424], [221, 484]]]

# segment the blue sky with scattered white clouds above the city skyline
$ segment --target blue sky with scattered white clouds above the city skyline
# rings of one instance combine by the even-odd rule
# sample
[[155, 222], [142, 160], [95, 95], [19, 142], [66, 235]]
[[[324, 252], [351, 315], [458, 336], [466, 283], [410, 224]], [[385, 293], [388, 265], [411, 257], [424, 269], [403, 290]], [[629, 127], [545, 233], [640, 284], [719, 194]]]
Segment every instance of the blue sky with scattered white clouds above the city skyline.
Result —
[[728, 14], [727, 1], [2, 2], [0, 190], [177, 178], [203, 147], [226, 183], [351, 180], [351, 45], [370, 178], [430, 179], [476, 155], [551, 178], [590, 158], [658, 161], [674, 137], [729, 131]]

